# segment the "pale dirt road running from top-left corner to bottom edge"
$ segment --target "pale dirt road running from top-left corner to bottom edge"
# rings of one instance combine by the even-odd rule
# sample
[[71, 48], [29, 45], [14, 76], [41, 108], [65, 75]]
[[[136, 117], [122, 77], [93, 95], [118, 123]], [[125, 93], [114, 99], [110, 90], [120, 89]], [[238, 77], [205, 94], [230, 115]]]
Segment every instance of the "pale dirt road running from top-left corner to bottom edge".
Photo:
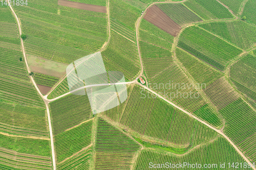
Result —
[[[8, 6], [10, 7], [12, 14], [14, 15], [16, 22], [17, 22], [17, 26], [18, 26], [18, 32], [19, 32], [19, 37], [22, 35], [22, 29], [20, 28], [20, 22], [19, 19], [16, 15], [16, 13], [14, 12], [12, 5], [10, 4], [10, 0], [6, 0], [8, 3]], [[20, 37], [20, 44], [22, 45], [22, 52], [23, 52], [23, 56], [24, 56], [24, 60], [26, 63], [26, 68], [28, 73], [30, 72], [30, 68], [28, 65], [28, 60], [26, 57], [26, 53], [25, 53], [25, 48], [24, 48], [24, 43], [23, 43], [23, 39]], [[52, 166], [53, 166], [53, 170], [56, 170], [56, 158], [55, 158], [55, 151], [54, 151], [54, 143], [53, 143], [53, 133], [52, 133], [52, 125], [51, 125], [51, 116], [50, 116], [50, 111], [49, 111], [49, 107], [48, 107], [48, 102], [46, 102], [46, 98], [44, 95], [42, 95], [42, 93], [40, 92], [40, 90], [38, 89], [34, 79], [32, 76], [29, 76], [30, 81], [32, 82], [32, 84], [34, 85], [34, 87], [36, 88], [36, 91], [38, 92], [38, 94], [40, 95], [40, 97], [42, 98], [42, 100], [45, 102], [46, 105], [46, 109], [47, 109], [47, 117], [48, 117], [48, 124], [49, 124], [49, 132], [50, 132], [50, 139], [51, 139], [51, 149], [52, 149]]]

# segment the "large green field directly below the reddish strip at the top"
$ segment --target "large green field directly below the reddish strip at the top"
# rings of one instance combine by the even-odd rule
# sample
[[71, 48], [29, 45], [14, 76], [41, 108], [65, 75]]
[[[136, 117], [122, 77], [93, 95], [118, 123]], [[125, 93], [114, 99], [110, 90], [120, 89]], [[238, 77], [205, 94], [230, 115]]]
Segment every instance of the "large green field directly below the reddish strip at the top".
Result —
[[106, 40], [106, 14], [54, 1], [30, 1], [14, 6], [22, 23], [27, 54], [70, 63], [97, 51]]

